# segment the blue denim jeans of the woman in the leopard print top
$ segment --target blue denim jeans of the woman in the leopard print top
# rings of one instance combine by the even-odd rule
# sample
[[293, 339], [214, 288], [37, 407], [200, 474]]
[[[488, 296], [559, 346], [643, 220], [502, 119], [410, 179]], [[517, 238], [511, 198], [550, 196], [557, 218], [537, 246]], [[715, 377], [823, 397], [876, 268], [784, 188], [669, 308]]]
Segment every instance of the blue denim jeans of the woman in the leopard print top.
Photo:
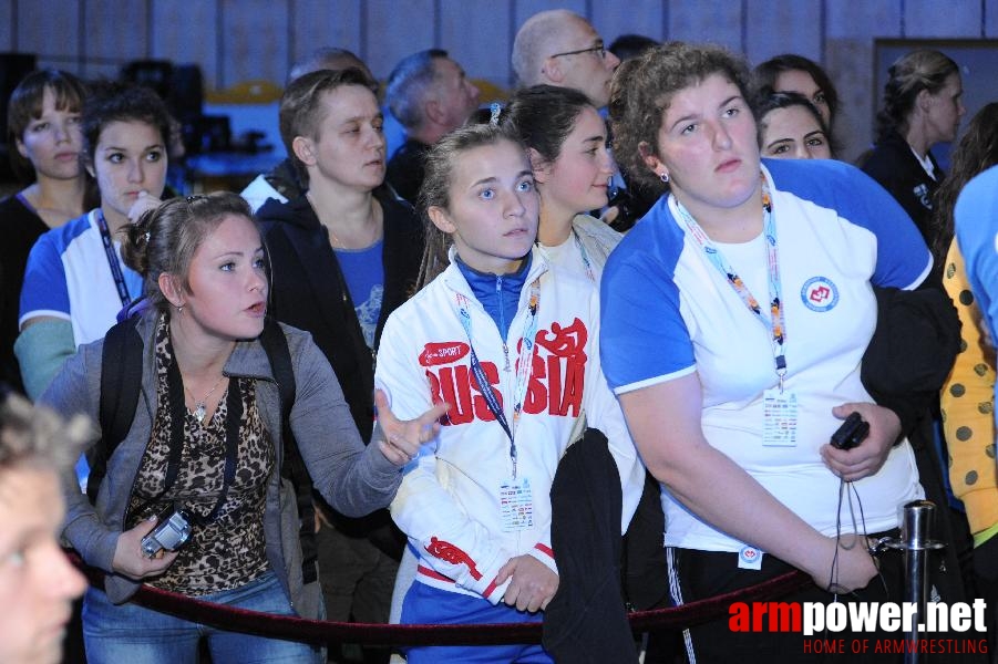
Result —
[[[296, 615], [274, 572], [241, 588], [199, 599], [249, 611]], [[133, 602], [115, 605], [95, 588], [89, 589], [83, 600], [83, 639], [90, 664], [196, 662], [202, 639], [207, 640], [215, 664], [325, 662], [318, 647], [305, 643], [224, 632]]]

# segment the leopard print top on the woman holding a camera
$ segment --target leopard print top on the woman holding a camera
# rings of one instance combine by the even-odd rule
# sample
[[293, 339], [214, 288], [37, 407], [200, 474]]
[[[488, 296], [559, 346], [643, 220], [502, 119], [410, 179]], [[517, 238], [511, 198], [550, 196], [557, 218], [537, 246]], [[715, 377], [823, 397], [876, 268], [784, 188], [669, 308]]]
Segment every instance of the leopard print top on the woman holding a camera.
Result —
[[[167, 367], [173, 362], [169, 328], [161, 317], [156, 328], [156, 419], [128, 504], [126, 527], [175, 504], [207, 517], [224, 485], [226, 397], [210, 422], [202, 425], [184, 412], [184, 448], [176, 481], [161, 496], [166, 478], [172, 424]], [[274, 446], [256, 407], [251, 378], [237, 381], [243, 400], [243, 421], [236, 457], [236, 478], [225, 504], [208, 523], [192, 525], [191, 539], [176, 561], [151, 580], [157, 588], [186, 595], [232, 590], [261, 577], [269, 563], [264, 536], [267, 485], [274, 470]], [[150, 505], [150, 499], [154, 499]]]

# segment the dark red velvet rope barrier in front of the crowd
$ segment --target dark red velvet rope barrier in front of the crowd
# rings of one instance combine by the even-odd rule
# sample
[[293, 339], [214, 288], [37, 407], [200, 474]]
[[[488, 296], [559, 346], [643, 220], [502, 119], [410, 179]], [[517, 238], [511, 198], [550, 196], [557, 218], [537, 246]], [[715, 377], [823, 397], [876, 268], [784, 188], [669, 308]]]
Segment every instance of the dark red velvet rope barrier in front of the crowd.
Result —
[[[75, 552], [68, 554], [70, 560], [86, 574], [92, 585], [104, 587], [103, 571], [84, 564]], [[635, 632], [685, 629], [727, 616], [733, 602], [775, 600], [804, 588], [809, 583], [811, 583], [811, 579], [804, 572], [792, 571], [757, 585], [690, 602], [682, 606], [636, 611], [628, 615], [628, 620]], [[316, 645], [338, 643], [383, 646], [541, 643], [541, 623], [388, 625], [316, 621], [213, 604], [147, 584], [143, 584], [130, 601], [146, 609], [229, 632], [243, 632]]]

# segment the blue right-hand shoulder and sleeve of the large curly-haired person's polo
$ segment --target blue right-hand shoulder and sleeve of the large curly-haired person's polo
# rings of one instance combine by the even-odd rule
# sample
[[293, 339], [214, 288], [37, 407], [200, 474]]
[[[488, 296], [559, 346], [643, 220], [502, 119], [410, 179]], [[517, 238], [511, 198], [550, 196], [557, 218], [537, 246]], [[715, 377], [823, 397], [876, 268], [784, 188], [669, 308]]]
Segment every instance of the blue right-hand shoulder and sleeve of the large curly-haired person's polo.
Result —
[[903, 207], [868, 175], [832, 159], [801, 164], [795, 159], [765, 159], [776, 188], [834, 209], [838, 217], [865, 228], [877, 242], [874, 286], [905, 290], [928, 276], [932, 253], [918, 227]]

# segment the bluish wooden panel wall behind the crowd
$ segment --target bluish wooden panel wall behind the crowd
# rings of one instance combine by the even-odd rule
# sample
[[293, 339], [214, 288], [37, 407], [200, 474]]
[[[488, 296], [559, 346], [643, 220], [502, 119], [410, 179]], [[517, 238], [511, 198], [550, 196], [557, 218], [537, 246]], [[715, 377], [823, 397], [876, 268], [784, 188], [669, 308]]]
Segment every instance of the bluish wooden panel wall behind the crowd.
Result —
[[817, 60], [842, 96], [847, 158], [871, 138], [874, 38], [998, 38], [998, 0], [0, 0], [0, 51], [88, 77], [141, 58], [197, 63], [218, 90], [282, 84], [291, 63], [325, 45], [357, 52], [382, 79], [436, 46], [471, 76], [510, 86], [516, 29], [553, 8], [586, 15], [607, 42], [635, 32], [720, 43], [752, 62]]

